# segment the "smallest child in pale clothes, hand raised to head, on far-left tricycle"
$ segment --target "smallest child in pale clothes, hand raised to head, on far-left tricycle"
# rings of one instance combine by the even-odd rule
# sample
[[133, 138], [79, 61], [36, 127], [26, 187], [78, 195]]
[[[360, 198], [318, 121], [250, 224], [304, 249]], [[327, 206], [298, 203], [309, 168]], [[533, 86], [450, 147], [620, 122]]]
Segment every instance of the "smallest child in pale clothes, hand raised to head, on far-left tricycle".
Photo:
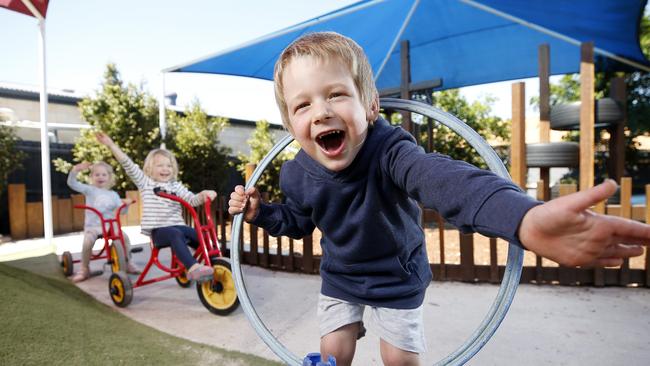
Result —
[[[79, 172], [84, 171], [90, 168], [90, 182], [91, 184], [83, 184], [77, 180], [77, 175]], [[122, 203], [131, 204], [133, 203], [131, 199], [125, 198], [120, 199], [120, 196], [117, 192], [112, 191], [111, 187], [115, 184], [115, 175], [113, 174], [113, 168], [106, 164], [103, 161], [91, 164], [84, 162], [77, 164], [72, 167], [70, 173], [68, 174], [68, 186], [82, 193], [86, 198], [86, 206], [95, 208], [97, 211], [101, 212], [102, 216], [105, 219], [111, 219], [115, 217], [116, 210], [122, 205]], [[89, 210], [85, 213], [84, 219], [84, 239], [83, 246], [81, 248], [81, 268], [79, 272], [75, 273], [72, 277], [72, 281], [81, 282], [86, 280], [90, 276], [90, 255], [95, 245], [95, 241], [99, 236], [102, 235], [102, 222], [99, 216], [94, 212]], [[127, 273], [137, 274], [140, 271], [131, 263], [131, 241], [129, 236], [122, 231], [124, 237], [124, 249], [127, 253]], [[117, 245], [119, 240], [117, 240]]]

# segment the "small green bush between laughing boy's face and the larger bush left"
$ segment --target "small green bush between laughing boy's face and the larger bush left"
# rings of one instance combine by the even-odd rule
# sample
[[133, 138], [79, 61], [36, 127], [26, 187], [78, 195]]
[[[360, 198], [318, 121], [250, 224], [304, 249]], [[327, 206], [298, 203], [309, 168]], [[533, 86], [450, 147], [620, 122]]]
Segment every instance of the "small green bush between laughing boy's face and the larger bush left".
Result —
[[[251, 138], [247, 142], [251, 147], [251, 153], [248, 156], [240, 154], [238, 159], [241, 163], [236, 165], [237, 170], [242, 175], [246, 172], [246, 164], [258, 164], [275, 145], [275, 137], [271, 133], [269, 123], [264, 120], [258, 121], [255, 131], [253, 131]], [[295, 147], [295, 145], [293, 146]], [[296, 149], [293, 149], [293, 151], [287, 150], [289, 149], [285, 149], [273, 159], [256, 184], [260, 192], [269, 193], [271, 201], [279, 201], [282, 197], [280, 192], [280, 167], [285, 161], [291, 160], [295, 156]]]

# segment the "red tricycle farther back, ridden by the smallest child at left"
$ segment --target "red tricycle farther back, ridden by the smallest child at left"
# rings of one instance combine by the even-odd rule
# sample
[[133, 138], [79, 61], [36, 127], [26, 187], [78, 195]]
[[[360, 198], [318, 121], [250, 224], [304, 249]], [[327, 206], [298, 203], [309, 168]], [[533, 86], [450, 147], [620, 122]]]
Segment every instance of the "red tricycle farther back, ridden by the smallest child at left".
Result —
[[[113, 273], [119, 271], [126, 271], [127, 253], [124, 244], [124, 235], [122, 235], [122, 224], [120, 223], [120, 214], [122, 209], [128, 206], [127, 203], [122, 205], [116, 210], [115, 218], [106, 219], [99, 210], [94, 207], [86, 205], [75, 205], [74, 208], [90, 210], [94, 212], [101, 221], [102, 234], [98, 239], [104, 239], [104, 246], [98, 253], [90, 254], [90, 260], [106, 259], [106, 263], [111, 265]], [[119, 240], [120, 245], [115, 245], [115, 241]], [[137, 252], [138, 250], [132, 250]], [[74, 263], [81, 262], [80, 259], [72, 259], [72, 253], [65, 251], [61, 255], [61, 267], [63, 267], [63, 274], [70, 276], [73, 272]]]

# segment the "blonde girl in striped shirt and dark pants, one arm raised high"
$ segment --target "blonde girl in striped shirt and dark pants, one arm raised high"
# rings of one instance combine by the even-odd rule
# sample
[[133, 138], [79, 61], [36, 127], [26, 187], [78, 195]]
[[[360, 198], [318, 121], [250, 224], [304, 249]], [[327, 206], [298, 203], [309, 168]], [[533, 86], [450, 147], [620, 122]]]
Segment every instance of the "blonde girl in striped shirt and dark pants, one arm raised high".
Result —
[[176, 177], [178, 163], [168, 150], [154, 149], [144, 160], [140, 169], [105, 133], [96, 134], [97, 141], [106, 145], [115, 159], [122, 165], [126, 174], [140, 191], [142, 200], [142, 233], [151, 236], [158, 246], [171, 246], [172, 250], [187, 270], [187, 278], [193, 281], [205, 281], [212, 278], [213, 269], [200, 264], [187, 248], [198, 247], [196, 231], [185, 225], [180, 203], [154, 194], [154, 188], [173, 192], [192, 206], [199, 206], [206, 199], [214, 200], [215, 191], [204, 190], [198, 194], [190, 192]]

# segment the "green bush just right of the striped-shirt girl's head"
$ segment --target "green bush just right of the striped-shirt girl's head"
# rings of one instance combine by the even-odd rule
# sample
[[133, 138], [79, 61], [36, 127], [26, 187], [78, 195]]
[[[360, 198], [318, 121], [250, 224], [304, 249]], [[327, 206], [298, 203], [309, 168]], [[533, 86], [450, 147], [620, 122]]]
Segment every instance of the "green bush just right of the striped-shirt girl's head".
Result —
[[185, 113], [168, 112], [167, 148], [174, 151], [179, 179], [193, 192], [212, 189], [223, 192], [230, 149], [219, 146], [219, 134], [228, 126], [226, 118], [211, 118], [197, 101]]

